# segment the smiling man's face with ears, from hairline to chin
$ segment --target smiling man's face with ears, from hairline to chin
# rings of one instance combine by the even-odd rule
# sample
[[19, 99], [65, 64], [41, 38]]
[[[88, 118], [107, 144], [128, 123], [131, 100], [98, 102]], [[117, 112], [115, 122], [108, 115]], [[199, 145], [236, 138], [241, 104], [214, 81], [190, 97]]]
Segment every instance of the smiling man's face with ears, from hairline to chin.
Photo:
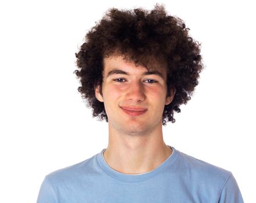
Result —
[[165, 67], [136, 67], [122, 56], [104, 58], [102, 95], [99, 86], [95, 96], [104, 102], [109, 128], [130, 135], [144, 135], [162, 126], [165, 105], [172, 102], [175, 90], [166, 97]]

